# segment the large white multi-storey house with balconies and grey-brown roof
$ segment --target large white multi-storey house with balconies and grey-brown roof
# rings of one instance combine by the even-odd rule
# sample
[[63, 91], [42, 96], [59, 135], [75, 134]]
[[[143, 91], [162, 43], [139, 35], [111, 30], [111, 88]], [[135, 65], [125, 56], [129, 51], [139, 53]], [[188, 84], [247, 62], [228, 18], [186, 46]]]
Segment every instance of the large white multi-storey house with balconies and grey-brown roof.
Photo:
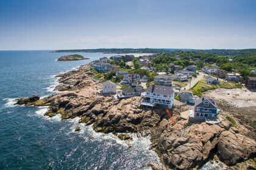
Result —
[[141, 105], [144, 106], [160, 104], [171, 109], [174, 104], [174, 90], [168, 86], [151, 84], [145, 92], [141, 93], [141, 97], [143, 97]]

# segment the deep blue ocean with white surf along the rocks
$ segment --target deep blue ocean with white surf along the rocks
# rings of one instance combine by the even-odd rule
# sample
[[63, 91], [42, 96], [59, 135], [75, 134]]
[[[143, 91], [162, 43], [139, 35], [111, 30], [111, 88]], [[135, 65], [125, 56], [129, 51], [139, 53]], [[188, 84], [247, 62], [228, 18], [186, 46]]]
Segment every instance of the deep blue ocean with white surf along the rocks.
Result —
[[[129, 148], [113, 134], [96, 133], [92, 126], [79, 124], [79, 118], [62, 121], [59, 115], [45, 117], [48, 107], [14, 105], [16, 98], [57, 93], [55, 75], [113, 55], [80, 53], [90, 60], [57, 61], [69, 54], [0, 51], [0, 169], [150, 169], [149, 162], [161, 165], [157, 154], [149, 150], [149, 137], [131, 134]], [[76, 127], [81, 131], [74, 132]]]

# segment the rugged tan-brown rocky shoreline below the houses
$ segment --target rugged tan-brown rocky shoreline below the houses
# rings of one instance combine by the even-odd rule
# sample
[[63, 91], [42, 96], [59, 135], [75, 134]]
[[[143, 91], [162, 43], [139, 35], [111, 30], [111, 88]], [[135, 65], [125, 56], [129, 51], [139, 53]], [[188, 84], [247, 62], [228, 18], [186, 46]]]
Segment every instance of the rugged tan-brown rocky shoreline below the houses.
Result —
[[[55, 90], [66, 92], [43, 99], [37, 96], [21, 98], [17, 104], [49, 106], [44, 115], [61, 114], [62, 119], [80, 117], [79, 123], [93, 124], [96, 132], [124, 133], [119, 137], [122, 140], [132, 140], [125, 134], [127, 132], [136, 132], [142, 137], [151, 135], [151, 149], [157, 152], [166, 169], [197, 168], [215, 155], [231, 169], [250, 158], [254, 158], [255, 163], [255, 129], [240, 124], [238, 117], [233, 117], [227, 109], [221, 108], [222, 113], [225, 111], [225, 115], [233, 117], [236, 124], [226, 120], [224, 114], [219, 115], [220, 124], [191, 124], [180, 117], [187, 106], [171, 110], [173, 124], [162, 107], [137, 106], [140, 97], [122, 100], [103, 97], [100, 95], [101, 80], [94, 82], [93, 76], [91, 64], [80, 66], [79, 70], [57, 76], [61, 84]], [[160, 169], [154, 164], [149, 166]]]

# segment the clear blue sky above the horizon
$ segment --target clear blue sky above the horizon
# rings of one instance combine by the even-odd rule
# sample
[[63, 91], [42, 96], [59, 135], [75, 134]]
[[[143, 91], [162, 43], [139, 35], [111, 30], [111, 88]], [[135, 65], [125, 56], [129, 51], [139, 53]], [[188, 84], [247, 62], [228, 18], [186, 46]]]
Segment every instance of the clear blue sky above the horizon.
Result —
[[0, 50], [98, 48], [256, 48], [256, 1], [0, 1]]

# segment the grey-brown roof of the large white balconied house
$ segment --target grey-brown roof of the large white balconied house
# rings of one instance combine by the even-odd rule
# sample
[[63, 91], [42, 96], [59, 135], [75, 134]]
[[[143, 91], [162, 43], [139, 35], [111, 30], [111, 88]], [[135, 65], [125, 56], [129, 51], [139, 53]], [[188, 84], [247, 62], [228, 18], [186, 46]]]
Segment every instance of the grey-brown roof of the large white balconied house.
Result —
[[153, 94], [161, 94], [161, 95], [172, 95], [174, 91], [172, 90], [172, 87], [169, 86], [160, 86], [151, 84], [145, 92], [153, 93]]

